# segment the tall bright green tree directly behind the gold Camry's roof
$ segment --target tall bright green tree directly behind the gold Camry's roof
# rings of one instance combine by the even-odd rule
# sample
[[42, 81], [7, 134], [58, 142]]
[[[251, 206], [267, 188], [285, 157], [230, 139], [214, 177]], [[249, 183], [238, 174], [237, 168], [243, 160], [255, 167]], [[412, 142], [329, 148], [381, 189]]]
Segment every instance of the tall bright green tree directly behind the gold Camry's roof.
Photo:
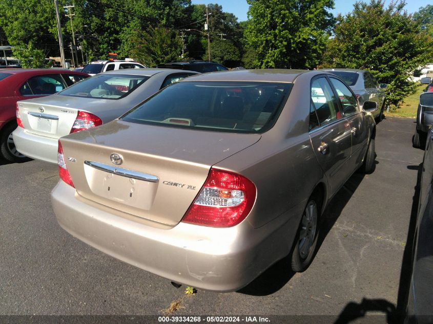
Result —
[[334, 0], [247, 0], [246, 40], [260, 68], [312, 69], [320, 62]]

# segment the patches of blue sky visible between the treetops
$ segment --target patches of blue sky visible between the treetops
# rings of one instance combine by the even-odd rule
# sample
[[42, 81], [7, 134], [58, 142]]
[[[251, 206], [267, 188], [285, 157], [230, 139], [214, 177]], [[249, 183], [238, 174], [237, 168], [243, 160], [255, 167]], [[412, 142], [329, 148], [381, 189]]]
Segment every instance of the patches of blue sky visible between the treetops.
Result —
[[[192, 0], [193, 4], [203, 4], [203, 0]], [[332, 13], [337, 16], [338, 13], [346, 14], [353, 9], [353, 5], [356, 0], [335, 0], [335, 9]], [[364, 0], [364, 2], [369, 3], [369, 0]], [[418, 11], [420, 7], [425, 7], [431, 4], [431, 0], [406, 0], [406, 6], [404, 9], [409, 13]], [[231, 12], [236, 17], [238, 21], [246, 20], [246, 12], [248, 11], [248, 4], [245, 0], [209, 0], [209, 3], [217, 3], [222, 6], [222, 11]], [[390, 0], [385, 1], [385, 5], [388, 5]]]

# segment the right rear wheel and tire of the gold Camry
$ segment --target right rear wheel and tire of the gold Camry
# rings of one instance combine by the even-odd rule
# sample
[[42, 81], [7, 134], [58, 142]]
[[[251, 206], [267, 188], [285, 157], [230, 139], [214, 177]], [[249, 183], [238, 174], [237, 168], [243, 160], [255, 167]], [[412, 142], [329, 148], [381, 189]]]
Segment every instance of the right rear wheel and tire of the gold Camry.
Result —
[[318, 197], [318, 195], [312, 195], [308, 199], [296, 233], [292, 249], [292, 270], [295, 272], [305, 271], [313, 261], [316, 252], [321, 211], [321, 203]]

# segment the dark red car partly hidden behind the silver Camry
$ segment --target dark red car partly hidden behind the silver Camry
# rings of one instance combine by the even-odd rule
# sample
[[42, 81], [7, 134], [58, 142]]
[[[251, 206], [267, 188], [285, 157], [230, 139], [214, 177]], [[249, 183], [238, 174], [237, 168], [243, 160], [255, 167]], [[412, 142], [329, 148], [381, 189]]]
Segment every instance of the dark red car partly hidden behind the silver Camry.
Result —
[[49, 96], [89, 77], [66, 69], [0, 69], [0, 159], [28, 160], [13, 143], [16, 128], [16, 102]]

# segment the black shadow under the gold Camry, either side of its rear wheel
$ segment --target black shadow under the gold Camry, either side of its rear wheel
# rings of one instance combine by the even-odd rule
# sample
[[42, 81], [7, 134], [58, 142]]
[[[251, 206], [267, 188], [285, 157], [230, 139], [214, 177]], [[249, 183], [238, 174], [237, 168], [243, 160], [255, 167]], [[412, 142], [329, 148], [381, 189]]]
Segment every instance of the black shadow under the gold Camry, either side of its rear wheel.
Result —
[[[316, 253], [320, 250], [320, 246], [325, 240], [326, 235], [337, 221], [344, 206], [346, 206], [353, 196], [362, 179], [364, 179], [364, 175], [359, 173], [355, 173], [350, 177], [324, 210]], [[295, 272], [291, 270], [291, 258], [289, 254], [260, 274], [248, 286], [238, 290], [238, 292], [246, 295], [267, 296], [284, 287], [294, 275]]]

